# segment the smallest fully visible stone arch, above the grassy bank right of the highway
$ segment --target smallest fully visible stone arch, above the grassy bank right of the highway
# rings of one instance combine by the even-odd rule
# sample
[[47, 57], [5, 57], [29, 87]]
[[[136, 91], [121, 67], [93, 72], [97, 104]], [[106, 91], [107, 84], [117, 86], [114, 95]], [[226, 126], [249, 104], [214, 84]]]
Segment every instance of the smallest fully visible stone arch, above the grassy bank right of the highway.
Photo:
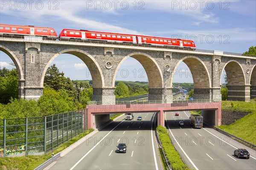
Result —
[[[240, 65], [239, 62], [237, 62], [236, 60], [228, 61], [223, 66], [221, 75], [224, 70], [226, 71], [227, 82], [229, 85], [245, 85], [246, 80], [244, 76], [244, 70], [242, 69], [242, 66]], [[221, 84], [221, 79], [220, 79], [220, 84]]]

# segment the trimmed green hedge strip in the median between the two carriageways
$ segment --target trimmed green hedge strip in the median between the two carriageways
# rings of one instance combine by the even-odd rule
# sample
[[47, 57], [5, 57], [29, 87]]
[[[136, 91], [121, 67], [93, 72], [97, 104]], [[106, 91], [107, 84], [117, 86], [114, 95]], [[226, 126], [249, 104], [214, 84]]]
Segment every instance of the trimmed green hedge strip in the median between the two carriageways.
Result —
[[172, 164], [172, 169], [189, 170], [186, 164], [184, 164], [181, 160], [179, 153], [175, 150], [175, 147], [173, 146], [171, 139], [169, 138], [169, 135], [167, 133], [167, 129], [163, 126], [158, 126], [157, 132], [159, 133], [159, 139], [162, 143], [163, 150], [165, 151], [167, 158]]

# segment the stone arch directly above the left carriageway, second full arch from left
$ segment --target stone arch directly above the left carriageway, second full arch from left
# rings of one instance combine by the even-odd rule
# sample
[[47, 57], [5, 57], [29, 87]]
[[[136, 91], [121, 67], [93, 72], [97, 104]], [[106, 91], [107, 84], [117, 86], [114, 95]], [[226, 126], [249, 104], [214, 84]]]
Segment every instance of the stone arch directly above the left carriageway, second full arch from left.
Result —
[[[154, 58], [148, 54], [145, 54], [142, 52], [134, 52], [134, 53], [128, 54], [119, 62], [118, 66], [116, 67], [116, 70], [119, 69], [119, 67], [128, 57], [137, 59], [137, 61], [140, 62], [140, 64], [145, 69], [145, 72], [148, 76], [148, 88], [163, 88], [162, 71], [159, 65], [157, 64], [157, 62], [154, 60]], [[117, 71], [115, 71], [115, 75], [113, 77], [113, 82], [112, 82], [113, 87], [115, 86], [116, 74], [117, 74]]]

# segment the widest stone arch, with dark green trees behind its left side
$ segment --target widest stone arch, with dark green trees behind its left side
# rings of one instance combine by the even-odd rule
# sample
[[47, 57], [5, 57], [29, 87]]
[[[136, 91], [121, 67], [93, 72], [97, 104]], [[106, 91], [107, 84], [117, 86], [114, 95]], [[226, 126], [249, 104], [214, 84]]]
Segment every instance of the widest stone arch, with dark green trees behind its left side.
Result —
[[43, 85], [44, 85], [44, 76], [46, 74], [47, 68], [52, 63], [52, 61], [56, 57], [58, 57], [60, 54], [72, 54], [76, 57], [79, 57], [84, 63], [86, 63], [87, 67], [90, 70], [90, 74], [91, 74], [92, 79], [93, 79], [93, 88], [105, 87], [105, 81], [104, 81], [104, 77], [102, 76], [102, 70], [101, 70], [99, 64], [97, 63], [97, 61], [90, 54], [88, 54], [86, 51], [79, 50], [79, 49], [76, 49], [76, 48], [70, 48], [70, 49], [62, 50], [62, 51], [58, 52], [57, 54], [55, 54], [49, 60], [49, 62], [47, 63], [47, 65], [45, 66], [44, 71], [43, 71], [43, 75], [42, 75], [42, 78], [41, 78], [41, 87], [43, 87]]

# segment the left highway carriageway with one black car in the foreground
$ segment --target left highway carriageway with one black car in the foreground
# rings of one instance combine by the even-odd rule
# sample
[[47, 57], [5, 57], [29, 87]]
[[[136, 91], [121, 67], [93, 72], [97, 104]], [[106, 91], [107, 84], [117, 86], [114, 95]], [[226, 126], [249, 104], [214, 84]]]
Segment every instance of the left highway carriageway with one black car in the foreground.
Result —
[[[142, 121], [137, 120], [142, 116]], [[139, 170], [162, 169], [155, 132], [154, 113], [134, 113], [100, 130], [66, 156], [58, 159], [50, 170]], [[116, 153], [118, 143], [127, 144], [126, 153]]]

